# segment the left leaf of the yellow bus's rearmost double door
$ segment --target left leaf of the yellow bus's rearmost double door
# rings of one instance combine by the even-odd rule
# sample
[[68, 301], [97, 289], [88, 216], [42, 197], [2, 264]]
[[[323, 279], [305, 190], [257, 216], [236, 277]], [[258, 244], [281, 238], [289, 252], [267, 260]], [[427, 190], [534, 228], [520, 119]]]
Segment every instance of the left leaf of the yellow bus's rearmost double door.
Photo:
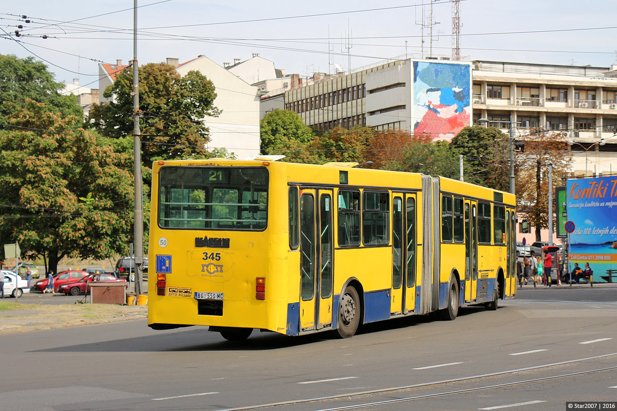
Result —
[[315, 190], [300, 191], [300, 330], [315, 330]]

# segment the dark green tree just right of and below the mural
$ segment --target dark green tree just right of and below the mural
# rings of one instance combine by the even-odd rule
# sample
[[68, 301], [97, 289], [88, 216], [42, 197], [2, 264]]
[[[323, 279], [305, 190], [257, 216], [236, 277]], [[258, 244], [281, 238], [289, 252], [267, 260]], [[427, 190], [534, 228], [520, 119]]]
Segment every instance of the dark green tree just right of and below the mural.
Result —
[[468, 126], [458, 132], [450, 147], [458, 149], [465, 158], [465, 181], [510, 190], [509, 139], [510, 136], [494, 127]]

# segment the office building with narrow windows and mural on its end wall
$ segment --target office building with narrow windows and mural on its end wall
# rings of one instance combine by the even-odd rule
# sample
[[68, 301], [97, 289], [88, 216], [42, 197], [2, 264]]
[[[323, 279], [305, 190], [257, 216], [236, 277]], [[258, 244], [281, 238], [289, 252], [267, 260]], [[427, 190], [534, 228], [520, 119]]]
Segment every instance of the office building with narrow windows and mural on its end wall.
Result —
[[394, 60], [285, 93], [285, 108], [320, 130], [356, 125], [451, 139], [471, 124], [470, 63]]

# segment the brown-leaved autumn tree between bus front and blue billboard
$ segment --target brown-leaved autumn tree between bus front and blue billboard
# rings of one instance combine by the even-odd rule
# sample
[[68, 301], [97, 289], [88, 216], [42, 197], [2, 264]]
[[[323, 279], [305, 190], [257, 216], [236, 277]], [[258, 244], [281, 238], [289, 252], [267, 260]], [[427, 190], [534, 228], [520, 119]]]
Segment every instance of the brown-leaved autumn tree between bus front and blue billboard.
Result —
[[[560, 184], [572, 163], [565, 132], [532, 130], [525, 137], [525, 151], [516, 156], [516, 207], [536, 229], [549, 227], [549, 164], [553, 165], [553, 187]], [[553, 211], [556, 210], [553, 207]]]

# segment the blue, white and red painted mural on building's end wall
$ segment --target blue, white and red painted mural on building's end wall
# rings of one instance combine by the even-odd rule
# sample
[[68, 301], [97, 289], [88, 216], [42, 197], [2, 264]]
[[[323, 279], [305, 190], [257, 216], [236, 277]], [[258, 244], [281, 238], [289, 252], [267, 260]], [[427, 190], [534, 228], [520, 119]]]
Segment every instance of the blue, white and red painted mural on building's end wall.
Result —
[[470, 82], [469, 65], [414, 62], [413, 134], [450, 140], [470, 126]]

